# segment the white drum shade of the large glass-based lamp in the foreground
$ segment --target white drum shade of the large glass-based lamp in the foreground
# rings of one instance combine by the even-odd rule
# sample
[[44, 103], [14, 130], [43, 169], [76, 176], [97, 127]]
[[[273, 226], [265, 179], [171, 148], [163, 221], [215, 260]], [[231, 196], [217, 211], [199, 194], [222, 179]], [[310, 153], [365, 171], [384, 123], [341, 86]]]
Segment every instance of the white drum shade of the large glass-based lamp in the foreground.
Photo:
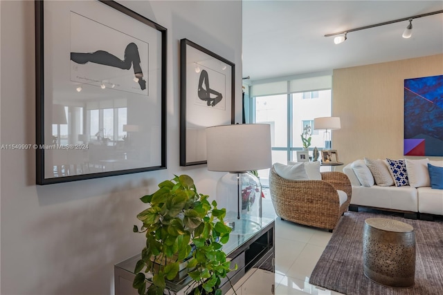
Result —
[[272, 166], [269, 124], [235, 124], [206, 129], [208, 170], [244, 172]]

